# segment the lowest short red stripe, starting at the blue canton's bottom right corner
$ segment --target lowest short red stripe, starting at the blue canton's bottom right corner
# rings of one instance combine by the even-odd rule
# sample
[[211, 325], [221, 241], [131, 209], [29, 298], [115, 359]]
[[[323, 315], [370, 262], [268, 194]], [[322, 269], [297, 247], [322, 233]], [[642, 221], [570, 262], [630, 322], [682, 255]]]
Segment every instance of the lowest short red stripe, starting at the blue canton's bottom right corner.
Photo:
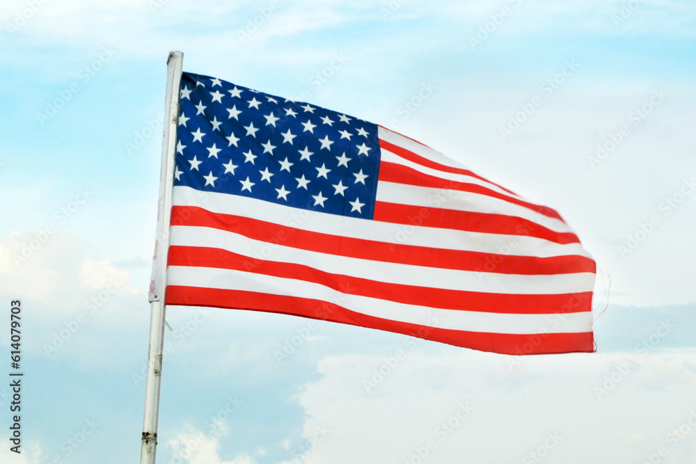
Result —
[[572, 232], [555, 232], [528, 219], [505, 214], [475, 213], [457, 209], [429, 208], [424, 206], [400, 205], [398, 203], [375, 202], [374, 221], [386, 223], [439, 227], [442, 229], [467, 230], [486, 234], [526, 235], [560, 243], [580, 243]]

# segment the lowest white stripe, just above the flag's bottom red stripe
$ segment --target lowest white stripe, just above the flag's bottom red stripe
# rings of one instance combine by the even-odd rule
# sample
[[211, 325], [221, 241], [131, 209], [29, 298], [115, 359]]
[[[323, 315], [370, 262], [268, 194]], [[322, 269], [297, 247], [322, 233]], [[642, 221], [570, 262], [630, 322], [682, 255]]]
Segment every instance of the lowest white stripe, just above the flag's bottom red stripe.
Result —
[[[348, 310], [372, 317], [424, 325], [439, 320], [438, 328], [482, 333], [538, 334], [581, 333], [592, 330], [592, 312], [550, 316], [549, 314], [499, 314], [491, 312], [440, 310], [405, 305], [367, 296], [344, 294], [324, 285], [271, 275], [205, 267], [169, 266], [168, 285], [212, 289], [258, 291], [330, 301]], [[553, 324], [551, 323], [553, 321]], [[553, 326], [553, 330], [551, 330]]]

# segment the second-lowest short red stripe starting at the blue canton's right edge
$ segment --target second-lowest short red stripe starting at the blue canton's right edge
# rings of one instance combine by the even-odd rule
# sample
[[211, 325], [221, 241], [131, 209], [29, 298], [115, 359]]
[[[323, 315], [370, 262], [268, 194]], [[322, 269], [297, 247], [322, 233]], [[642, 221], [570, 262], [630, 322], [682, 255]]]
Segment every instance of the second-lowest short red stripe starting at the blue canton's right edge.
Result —
[[500, 192], [488, 189], [487, 187], [478, 184], [469, 184], [467, 182], [457, 182], [454, 180], [441, 179], [433, 175], [420, 173], [419, 171], [403, 166], [397, 163], [389, 163], [388, 161], [379, 162], [379, 180], [386, 182], [395, 182], [397, 184], [417, 185], [421, 187], [431, 187], [433, 189], [448, 189], [459, 190], [471, 193], [480, 193], [493, 198], [499, 198], [515, 205], [536, 211], [539, 214], [555, 218], [563, 221], [560, 214], [549, 207], [535, 205], [534, 203], [526, 202], [520, 198], [511, 197]]

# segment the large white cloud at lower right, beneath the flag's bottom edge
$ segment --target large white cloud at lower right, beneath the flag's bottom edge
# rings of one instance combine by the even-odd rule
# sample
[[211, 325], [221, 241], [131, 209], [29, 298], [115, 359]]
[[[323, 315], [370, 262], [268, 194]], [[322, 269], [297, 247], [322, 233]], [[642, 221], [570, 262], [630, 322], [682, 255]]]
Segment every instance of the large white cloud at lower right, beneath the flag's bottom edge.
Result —
[[[512, 370], [505, 356], [461, 349], [411, 351], [390, 369], [393, 354], [324, 358], [300, 401], [305, 437], [328, 436], [304, 461], [420, 462], [427, 451], [433, 464], [523, 462], [546, 443], [548, 463], [642, 462], [661, 446], [691, 462], [696, 427], [669, 434], [696, 411], [694, 355], [533, 356]], [[365, 380], [379, 382], [367, 393]]]

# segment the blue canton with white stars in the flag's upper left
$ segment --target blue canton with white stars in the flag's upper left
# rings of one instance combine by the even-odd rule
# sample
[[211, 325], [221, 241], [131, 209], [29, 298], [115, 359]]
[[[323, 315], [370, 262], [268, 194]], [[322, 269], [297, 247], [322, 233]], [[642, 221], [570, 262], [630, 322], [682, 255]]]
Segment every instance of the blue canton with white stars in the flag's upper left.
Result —
[[184, 72], [175, 185], [371, 219], [377, 125]]

